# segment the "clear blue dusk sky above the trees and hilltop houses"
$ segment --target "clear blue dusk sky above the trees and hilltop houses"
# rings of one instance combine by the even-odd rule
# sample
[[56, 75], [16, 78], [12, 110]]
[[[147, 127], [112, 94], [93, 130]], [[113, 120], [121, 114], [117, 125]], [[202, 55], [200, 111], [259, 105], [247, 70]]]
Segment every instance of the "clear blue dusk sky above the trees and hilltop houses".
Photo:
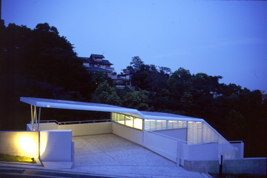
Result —
[[117, 73], [145, 64], [220, 75], [267, 90], [267, 1], [2, 0], [1, 18], [55, 26], [80, 57], [103, 54]]

